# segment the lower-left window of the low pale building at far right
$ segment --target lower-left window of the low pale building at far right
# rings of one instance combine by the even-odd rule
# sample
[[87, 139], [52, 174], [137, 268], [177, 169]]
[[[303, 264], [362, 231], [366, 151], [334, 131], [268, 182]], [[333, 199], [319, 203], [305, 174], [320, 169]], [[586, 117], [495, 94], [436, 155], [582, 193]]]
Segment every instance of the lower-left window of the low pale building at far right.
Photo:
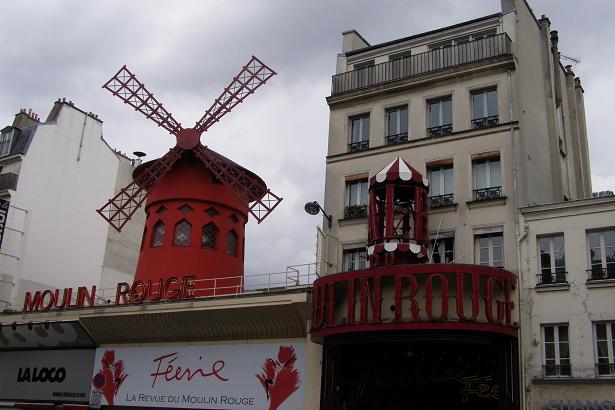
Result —
[[544, 347], [544, 375], [570, 376], [568, 325], [543, 326], [542, 340]]

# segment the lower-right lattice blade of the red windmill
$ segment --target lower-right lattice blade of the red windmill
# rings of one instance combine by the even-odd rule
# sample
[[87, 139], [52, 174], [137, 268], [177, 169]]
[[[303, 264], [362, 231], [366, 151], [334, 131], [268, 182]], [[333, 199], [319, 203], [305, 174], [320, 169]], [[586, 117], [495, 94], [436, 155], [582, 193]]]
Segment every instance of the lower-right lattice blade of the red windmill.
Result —
[[205, 166], [241, 200], [247, 202], [248, 210], [260, 224], [280, 202], [256, 175], [235, 164], [228, 158], [199, 145], [194, 149]]

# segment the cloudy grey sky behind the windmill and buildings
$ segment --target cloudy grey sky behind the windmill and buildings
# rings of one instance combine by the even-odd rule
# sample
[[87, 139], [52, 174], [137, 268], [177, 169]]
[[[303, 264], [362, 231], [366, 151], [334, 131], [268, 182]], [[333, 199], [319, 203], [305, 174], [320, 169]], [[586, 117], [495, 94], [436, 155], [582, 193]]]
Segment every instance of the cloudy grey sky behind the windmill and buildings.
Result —
[[[615, 188], [611, 103], [615, 26], [611, 0], [529, 0], [579, 58], [594, 191]], [[325, 97], [354, 28], [371, 44], [500, 11], [499, 0], [0, 0], [0, 126], [20, 108], [45, 118], [66, 97], [104, 121], [124, 152], [163, 155], [175, 143], [101, 85], [124, 64], [184, 126], [192, 126], [252, 54], [279, 75], [212, 127], [202, 142], [260, 175], [284, 197], [265, 222], [248, 223], [246, 272], [314, 261], [316, 225], [303, 204], [322, 201]]]

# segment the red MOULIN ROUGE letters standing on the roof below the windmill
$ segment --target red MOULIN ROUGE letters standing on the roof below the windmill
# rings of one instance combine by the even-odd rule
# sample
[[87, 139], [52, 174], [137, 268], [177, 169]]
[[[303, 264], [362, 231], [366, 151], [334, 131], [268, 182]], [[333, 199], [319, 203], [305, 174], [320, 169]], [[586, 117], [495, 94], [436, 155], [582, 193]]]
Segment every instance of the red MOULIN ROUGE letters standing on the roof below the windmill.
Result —
[[[194, 276], [171, 277], [158, 281], [137, 280], [133, 284], [120, 282], [115, 290], [116, 305], [139, 305], [142, 303], [172, 302], [194, 299]], [[26, 292], [24, 312], [82, 309], [94, 307], [96, 286]]]

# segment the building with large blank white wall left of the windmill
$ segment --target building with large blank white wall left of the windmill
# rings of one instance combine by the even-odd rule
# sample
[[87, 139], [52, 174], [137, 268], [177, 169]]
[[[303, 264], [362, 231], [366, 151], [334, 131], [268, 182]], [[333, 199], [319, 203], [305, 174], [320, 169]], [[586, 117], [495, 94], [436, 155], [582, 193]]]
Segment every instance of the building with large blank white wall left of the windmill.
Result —
[[[0, 252], [0, 308], [74, 283], [132, 280], [145, 215], [122, 236], [96, 209], [138, 165], [102, 137], [102, 121], [58, 100], [43, 121], [21, 110], [0, 133], [0, 199], [8, 214]], [[10, 306], [12, 305], [12, 306]]]

